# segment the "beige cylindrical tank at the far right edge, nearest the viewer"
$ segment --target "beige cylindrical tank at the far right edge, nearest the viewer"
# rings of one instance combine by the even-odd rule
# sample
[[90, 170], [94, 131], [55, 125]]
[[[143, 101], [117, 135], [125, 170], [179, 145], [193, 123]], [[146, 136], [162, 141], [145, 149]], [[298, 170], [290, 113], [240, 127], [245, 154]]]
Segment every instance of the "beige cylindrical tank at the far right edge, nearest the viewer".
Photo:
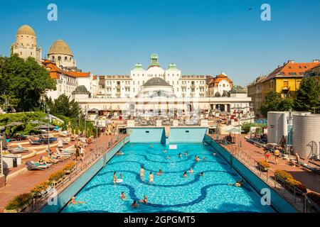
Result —
[[294, 114], [293, 148], [300, 157], [320, 159], [320, 114]]

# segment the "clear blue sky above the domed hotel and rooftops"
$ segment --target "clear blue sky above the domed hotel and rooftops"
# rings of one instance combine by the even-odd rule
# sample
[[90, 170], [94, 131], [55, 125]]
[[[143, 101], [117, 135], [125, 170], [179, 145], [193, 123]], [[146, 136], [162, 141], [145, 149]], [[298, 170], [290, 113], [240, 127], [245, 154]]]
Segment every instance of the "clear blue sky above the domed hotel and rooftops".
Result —
[[[50, 3], [58, 21], [47, 20]], [[270, 22], [260, 20], [263, 3], [272, 7]], [[320, 58], [319, 9], [319, 0], [1, 1], [0, 54], [9, 55], [16, 30], [28, 24], [43, 57], [62, 38], [78, 67], [94, 74], [129, 74], [157, 53], [165, 69], [174, 62], [183, 74], [225, 72], [246, 85], [289, 59]]]

